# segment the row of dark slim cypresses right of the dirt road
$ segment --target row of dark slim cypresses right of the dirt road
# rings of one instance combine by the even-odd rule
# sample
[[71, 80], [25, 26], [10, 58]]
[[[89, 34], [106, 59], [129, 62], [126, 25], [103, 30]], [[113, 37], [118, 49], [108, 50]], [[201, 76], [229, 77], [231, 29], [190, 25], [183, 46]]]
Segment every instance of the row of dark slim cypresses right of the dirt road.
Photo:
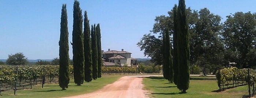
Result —
[[182, 93], [189, 88], [189, 40], [186, 19], [185, 0], [179, 0], [173, 11], [173, 58], [171, 55], [170, 32], [168, 27], [163, 32], [163, 75], [169, 82], [174, 82]]

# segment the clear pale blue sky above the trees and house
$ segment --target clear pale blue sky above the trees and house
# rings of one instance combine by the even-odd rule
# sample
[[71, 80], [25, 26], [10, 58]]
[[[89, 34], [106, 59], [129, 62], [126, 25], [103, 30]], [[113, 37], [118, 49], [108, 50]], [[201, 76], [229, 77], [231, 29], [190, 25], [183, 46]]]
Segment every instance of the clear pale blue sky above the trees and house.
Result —
[[[100, 23], [102, 50], [131, 52], [144, 57], [137, 42], [152, 30], [155, 16], [168, 15], [178, 0], [79, 0], [90, 24]], [[28, 59], [59, 57], [60, 16], [67, 4], [69, 41], [72, 41], [73, 0], [0, 0], [0, 59], [22, 52]], [[235, 12], [256, 12], [255, 0], [186, 0], [193, 10], [208, 8], [226, 16]], [[69, 55], [73, 58], [72, 46]]]

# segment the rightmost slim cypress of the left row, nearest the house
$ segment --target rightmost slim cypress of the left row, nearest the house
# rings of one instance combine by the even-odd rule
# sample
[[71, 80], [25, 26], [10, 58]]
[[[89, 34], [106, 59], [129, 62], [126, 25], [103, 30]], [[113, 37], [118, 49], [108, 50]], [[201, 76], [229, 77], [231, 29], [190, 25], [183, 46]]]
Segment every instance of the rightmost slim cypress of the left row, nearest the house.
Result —
[[101, 78], [101, 66], [102, 66], [102, 58], [101, 58], [101, 34], [100, 34], [100, 24], [98, 23], [96, 26], [96, 35], [97, 35], [97, 48], [98, 48], [98, 78]]

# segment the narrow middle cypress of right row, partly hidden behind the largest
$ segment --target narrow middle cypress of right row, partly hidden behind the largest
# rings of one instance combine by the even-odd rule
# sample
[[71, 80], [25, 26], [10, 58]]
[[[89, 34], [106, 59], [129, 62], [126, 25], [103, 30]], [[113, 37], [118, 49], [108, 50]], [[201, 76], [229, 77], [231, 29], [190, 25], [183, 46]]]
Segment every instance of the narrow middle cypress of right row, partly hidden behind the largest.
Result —
[[175, 4], [173, 9], [173, 81], [174, 84], [178, 85], [178, 57], [177, 57], [177, 5]]

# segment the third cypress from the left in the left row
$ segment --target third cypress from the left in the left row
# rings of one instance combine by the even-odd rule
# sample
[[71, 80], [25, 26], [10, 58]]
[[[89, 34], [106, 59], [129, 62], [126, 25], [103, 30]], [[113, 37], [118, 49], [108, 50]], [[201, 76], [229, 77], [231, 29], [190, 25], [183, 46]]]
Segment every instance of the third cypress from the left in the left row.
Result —
[[84, 19], [84, 54], [85, 54], [85, 82], [92, 81], [92, 46], [90, 38], [90, 24], [85, 11]]

